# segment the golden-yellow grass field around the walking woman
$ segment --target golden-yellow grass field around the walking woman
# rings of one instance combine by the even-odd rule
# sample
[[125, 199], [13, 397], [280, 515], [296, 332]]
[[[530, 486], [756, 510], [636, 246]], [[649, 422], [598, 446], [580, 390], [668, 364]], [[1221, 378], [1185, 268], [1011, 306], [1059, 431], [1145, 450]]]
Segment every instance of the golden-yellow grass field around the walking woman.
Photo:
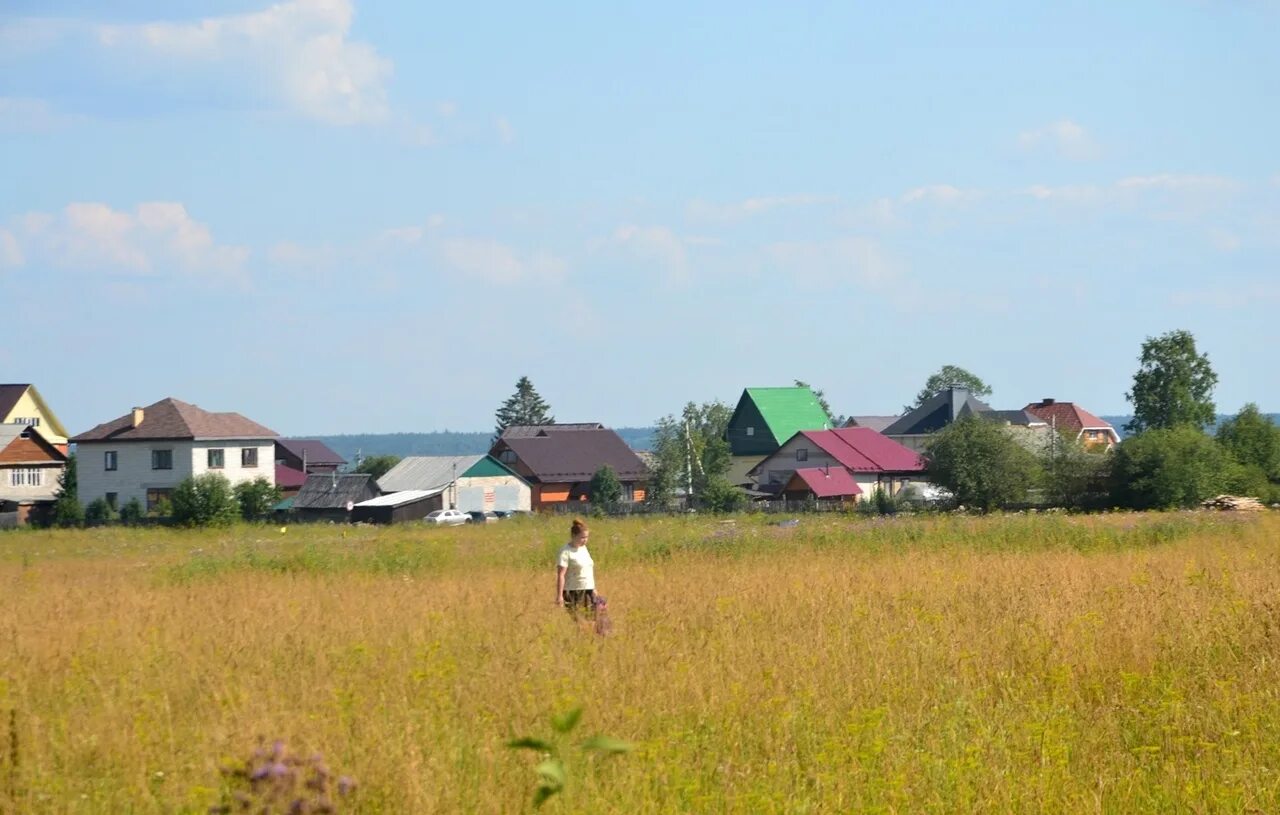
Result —
[[[260, 737], [357, 812], [1280, 811], [1280, 514], [0, 535], [0, 811], [204, 812]], [[10, 711], [13, 715], [10, 716]]]

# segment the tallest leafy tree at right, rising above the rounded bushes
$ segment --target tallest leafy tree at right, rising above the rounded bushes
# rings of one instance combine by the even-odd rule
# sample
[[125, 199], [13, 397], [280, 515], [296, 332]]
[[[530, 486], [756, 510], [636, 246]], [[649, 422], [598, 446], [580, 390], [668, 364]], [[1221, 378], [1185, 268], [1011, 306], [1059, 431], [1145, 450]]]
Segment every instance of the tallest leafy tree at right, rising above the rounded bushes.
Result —
[[1196, 352], [1190, 331], [1148, 336], [1133, 388], [1125, 394], [1133, 403], [1133, 420], [1125, 429], [1132, 434], [1178, 425], [1204, 429], [1215, 418], [1215, 385], [1217, 374], [1208, 354]]

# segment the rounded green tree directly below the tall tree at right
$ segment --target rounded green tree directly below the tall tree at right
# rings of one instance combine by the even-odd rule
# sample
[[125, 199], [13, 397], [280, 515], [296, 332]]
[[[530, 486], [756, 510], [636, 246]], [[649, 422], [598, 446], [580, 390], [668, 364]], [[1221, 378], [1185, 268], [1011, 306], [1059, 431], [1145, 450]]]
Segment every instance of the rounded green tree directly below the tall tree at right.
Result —
[[1116, 448], [1112, 496], [1132, 509], [1194, 507], [1226, 489], [1233, 463], [1193, 425], [1148, 430]]

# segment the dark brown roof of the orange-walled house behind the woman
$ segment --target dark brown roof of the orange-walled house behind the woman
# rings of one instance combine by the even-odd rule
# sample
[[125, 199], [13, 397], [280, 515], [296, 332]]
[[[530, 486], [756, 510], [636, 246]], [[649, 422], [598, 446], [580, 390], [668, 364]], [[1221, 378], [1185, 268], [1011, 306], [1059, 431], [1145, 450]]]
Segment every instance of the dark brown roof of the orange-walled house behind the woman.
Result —
[[513, 450], [530, 476], [544, 484], [589, 481], [605, 464], [613, 468], [620, 481], [644, 481], [649, 477], [635, 450], [622, 436], [605, 427], [503, 438], [494, 449], [502, 447]]

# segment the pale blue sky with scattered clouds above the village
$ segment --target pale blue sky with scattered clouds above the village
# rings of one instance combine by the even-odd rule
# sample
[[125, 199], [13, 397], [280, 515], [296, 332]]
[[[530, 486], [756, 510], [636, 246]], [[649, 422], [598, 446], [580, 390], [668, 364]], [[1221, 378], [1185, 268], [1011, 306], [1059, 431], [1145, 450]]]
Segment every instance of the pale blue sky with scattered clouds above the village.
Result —
[[0, 381], [287, 435], [1280, 411], [1280, 3], [0, 5]]

